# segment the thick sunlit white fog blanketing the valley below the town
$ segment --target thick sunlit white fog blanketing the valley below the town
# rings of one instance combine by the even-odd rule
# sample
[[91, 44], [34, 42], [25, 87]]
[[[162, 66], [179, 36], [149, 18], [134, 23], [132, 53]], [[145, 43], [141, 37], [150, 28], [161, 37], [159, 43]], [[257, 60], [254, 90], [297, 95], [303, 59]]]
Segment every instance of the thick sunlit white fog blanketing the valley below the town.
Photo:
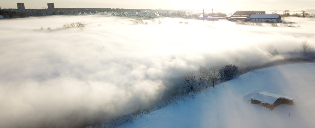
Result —
[[[315, 20], [307, 18], [282, 19], [296, 27], [134, 20], [100, 15], [0, 20], [0, 127], [97, 124], [149, 108], [176, 92], [180, 75], [199, 66], [255, 67], [285, 59], [271, 55], [270, 46], [287, 53], [302, 41], [315, 43]], [[73, 22], [85, 27], [62, 28]]]

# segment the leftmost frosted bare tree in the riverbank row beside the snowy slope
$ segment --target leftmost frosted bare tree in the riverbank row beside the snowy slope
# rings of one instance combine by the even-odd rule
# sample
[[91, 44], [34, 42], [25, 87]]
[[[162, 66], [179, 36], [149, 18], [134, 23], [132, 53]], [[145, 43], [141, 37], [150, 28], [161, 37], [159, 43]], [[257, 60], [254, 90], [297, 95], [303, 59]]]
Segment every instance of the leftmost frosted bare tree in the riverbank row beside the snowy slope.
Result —
[[183, 88], [187, 93], [196, 91], [197, 82], [197, 74], [190, 72], [180, 77], [180, 81], [182, 82]]

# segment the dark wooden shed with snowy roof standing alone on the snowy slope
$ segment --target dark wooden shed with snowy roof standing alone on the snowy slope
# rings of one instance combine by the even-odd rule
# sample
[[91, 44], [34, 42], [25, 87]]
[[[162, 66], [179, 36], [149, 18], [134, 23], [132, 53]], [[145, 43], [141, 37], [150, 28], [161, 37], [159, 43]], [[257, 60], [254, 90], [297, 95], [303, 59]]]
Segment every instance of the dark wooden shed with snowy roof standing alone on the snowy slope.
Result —
[[251, 103], [259, 104], [260, 106], [273, 110], [273, 108], [277, 107], [279, 104], [293, 104], [293, 98], [263, 91], [258, 92], [251, 99]]

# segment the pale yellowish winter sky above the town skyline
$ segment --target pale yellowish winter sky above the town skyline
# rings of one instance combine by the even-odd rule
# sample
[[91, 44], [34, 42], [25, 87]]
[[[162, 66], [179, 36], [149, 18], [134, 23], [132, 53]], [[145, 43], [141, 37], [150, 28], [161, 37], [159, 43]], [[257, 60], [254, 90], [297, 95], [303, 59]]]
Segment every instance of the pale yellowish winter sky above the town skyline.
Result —
[[314, 0], [0, 0], [1, 8], [17, 8], [25, 3], [26, 9], [47, 8], [129, 8], [129, 9], [189, 9], [189, 10], [315, 10]]

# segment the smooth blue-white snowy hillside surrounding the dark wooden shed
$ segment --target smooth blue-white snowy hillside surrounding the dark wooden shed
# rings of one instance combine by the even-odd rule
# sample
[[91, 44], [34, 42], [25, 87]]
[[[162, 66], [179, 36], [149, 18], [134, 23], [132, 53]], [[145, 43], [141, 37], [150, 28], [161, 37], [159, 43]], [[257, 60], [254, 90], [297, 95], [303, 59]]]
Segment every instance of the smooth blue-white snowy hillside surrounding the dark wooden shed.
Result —
[[[315, 63], [254, 70], [215, 88], [205, 90], [194, 99], [154, 111], [121, 127], [314, 127], [314, 76]], [[292, 97], [294, 104], [281, 104], [273, 111], [251, 104], [251, 97], [259, 91]]]

